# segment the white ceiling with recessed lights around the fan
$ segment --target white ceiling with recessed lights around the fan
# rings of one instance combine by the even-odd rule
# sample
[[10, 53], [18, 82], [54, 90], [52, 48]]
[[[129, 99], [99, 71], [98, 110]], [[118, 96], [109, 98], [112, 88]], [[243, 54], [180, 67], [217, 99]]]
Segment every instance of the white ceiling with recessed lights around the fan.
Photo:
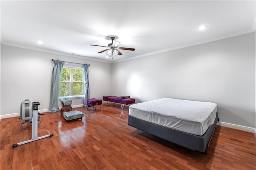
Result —
[[[255, 31], [255, 1], [2, 1], [1, 43], [117, 62]], [[200, 25], [208, 25], [198, 31]], [[119, 57], [106, 58], [116, 36]], [[42, 41], [39, 45], [36, 41]]]

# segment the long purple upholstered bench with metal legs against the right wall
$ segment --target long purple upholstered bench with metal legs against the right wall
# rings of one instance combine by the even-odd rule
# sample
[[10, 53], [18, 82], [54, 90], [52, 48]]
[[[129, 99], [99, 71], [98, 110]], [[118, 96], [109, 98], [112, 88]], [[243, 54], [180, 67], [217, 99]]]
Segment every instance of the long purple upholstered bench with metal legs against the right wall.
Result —
[[135, 103], [134, 98], [130, 98], [130, 96], [103, 96], [103, 100], [107, 101], [106, 106], [108, 106], [108, 102], [119, 103], [121, 108], [124, 108], [124, 105], [131, 105]]

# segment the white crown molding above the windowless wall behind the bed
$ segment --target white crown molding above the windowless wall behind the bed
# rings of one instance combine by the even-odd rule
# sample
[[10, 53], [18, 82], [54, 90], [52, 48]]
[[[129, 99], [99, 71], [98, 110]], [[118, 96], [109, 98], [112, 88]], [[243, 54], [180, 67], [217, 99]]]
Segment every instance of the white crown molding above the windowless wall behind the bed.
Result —
[[131, 57], [131, 58], [128, 58], [128, 59], [122, 59], [122, 60], [119, 60], [119, 61], [113, 61], [112, 63], [119, 63], [119, 62], [128, 61], [128, 60], [132, 60], [132, 59], [137, 59], [137, 58], [140, 58], [140, 57], [146, 57], [146, 56], [150, 56], [150, 55], [165, 53], [165, 52], [173, 51], [173, 50], [176, 50], [176, 49], [182, 49], [182, 48], [191, 47], [191, 46], [194, 46], [194, 45], [200, 45], [200, 44], [209, 43], [209, 42], [212, 42], [212, 41], [218, 41], [218, 40], [221, 40], [221, 39], [226, 39], [226, 38], [235, 37], [235, 36], [238, 36], [238, 35], [252, 33], [254, 31], [255, 30], [253, 30], [253, 29], [249, 29], [249, 30], [246, 30], [246, 31], [232, 33], [232, 34], [228, 34], [228, 35], [224, 35], [224, 36], [208, 39], [208, 40], [205, 40], [205, 41], [198, 41], [196, 43], [180, 45], [180, 46], [176, 46], [176, 47], [172, 47], [172, 48], [168, 48], [168, 49], [162, 49], [162, 50], [159, 50], [159, 51], [154, 51], [154, 52], [151, 52], [151, 53], [146, 53], [146, 54], [143, 54], [143, 55], [138, 55], [138, 56]]

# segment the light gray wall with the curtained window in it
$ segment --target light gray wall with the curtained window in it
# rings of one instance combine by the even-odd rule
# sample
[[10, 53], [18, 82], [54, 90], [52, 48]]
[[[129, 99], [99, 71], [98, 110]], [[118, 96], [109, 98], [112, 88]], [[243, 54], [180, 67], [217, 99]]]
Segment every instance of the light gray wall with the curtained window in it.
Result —
[[[24, 99], [40, 102], [39, 110], [48, 110], [54, 60], [90, 64], [90, 97], [102, 98], [111, 92], [111, 64], [1, 45], [1, 117], [20, 113]], [[72, 105], [83, 104], [73, 99]], [[59, 106], [61, 106], [59, 102]]]

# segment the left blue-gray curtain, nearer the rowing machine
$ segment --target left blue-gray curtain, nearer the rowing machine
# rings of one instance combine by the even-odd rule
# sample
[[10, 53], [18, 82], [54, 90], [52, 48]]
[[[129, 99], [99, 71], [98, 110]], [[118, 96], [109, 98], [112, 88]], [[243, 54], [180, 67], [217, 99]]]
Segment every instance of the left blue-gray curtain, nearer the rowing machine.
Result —
[[50, 94], [50, 104], [48, 112], [59, 111], [58, 101], [59, 101], [59, 84], [60, 75], [63, 67], [63, 61], [54, 61], [54, 66], [52, 70], [52, 83], [51, 83], [51, 94]]

